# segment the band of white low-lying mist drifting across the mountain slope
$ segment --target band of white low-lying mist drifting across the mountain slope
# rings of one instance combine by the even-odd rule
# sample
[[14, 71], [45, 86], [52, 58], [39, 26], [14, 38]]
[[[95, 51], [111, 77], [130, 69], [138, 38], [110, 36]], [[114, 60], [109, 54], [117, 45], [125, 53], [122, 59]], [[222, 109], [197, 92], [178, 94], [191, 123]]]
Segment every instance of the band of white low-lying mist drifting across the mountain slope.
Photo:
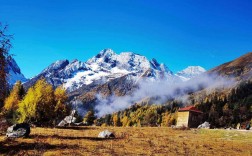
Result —
[[201, 76], [189, 81], [177, 80], [149, 80], [138, 81], [138, 89], [133, 94], [118, 97], [115, 95], [104, 98], [101, 94], [96, 95], [97, 105], [95, 106], [96, 115], [101, 117], [124, 110], [144, 98], [158, 97], [152, 101], [153, 104], [164, 104], [168, 99], [178, 99], [189, 104], [188, 93], [202, 90], [204, 88], [227, 88], [235, 84], [234, 79], [227, 79], [217, 76], [217, 74], [202, 74]]

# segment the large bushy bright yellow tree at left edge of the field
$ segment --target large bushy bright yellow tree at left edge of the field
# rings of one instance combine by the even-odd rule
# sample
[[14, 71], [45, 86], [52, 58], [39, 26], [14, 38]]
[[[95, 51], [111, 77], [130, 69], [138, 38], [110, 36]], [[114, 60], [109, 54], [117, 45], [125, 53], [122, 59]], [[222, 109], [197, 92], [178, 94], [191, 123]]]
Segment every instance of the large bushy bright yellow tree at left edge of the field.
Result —
[[53, 122], [56, 103], [52, 85], [40, 79], [29, 88], [24, 99], [19, 103], [19, 122], [36, 125], [50, 125]]

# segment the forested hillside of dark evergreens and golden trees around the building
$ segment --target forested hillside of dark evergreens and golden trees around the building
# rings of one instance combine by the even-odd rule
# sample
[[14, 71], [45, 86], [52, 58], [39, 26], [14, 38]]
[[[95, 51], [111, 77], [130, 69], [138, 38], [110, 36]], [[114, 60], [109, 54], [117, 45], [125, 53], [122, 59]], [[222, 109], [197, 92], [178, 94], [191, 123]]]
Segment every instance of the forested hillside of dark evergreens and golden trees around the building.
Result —
[[[244, 126], [252, 118], [252, 80], [242, 81], [225, 90], [206, 90], [190, 95], [191, 102], [203, 112], [203, 120], [212, 127]], [[199, 98], [200, 96], [200, 98]], [[105, 115], [95, 121], [108, 126], [171, 126], [176, 124], [177, 111], [185, 106], [182, 101], [171, 100], [164, 105], [135, 104], [124, 111]]]

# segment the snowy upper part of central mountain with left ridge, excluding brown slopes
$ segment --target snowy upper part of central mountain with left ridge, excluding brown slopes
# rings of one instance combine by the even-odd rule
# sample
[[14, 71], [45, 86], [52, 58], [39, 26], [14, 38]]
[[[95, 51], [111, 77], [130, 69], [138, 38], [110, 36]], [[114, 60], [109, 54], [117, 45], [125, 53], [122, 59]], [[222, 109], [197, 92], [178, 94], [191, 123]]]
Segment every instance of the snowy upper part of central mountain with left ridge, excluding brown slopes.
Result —
[[26, 85], [30, 86], [44, 77], [55, 87], [63, 84], [71, 92], [83, 85], [104, 84], [127, 74], [134, 75], [136, 80], [141, 77], [155, 80], [174, 76], [164, 64], [159, 64], [155, 59], [149, 61], [145, 56], [132, 52], [116, 54], [111, 49], [104, 49], [86, 62], [56, 61]]

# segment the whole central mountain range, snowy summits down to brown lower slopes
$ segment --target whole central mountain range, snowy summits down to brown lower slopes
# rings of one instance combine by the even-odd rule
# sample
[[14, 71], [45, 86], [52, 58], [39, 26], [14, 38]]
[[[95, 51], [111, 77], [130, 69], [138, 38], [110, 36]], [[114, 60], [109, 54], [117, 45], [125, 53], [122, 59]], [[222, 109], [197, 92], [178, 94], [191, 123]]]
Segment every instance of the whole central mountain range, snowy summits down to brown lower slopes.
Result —
[[54, 87], [63, 85], [68, 92], [69, 102], [86, 111], [94, 108], [101, 97], [109, 100], [113, 96], [132, 95], [142, 83], [150, 81], [180, 83], [185, 79], [182, 76], [188, 76], [189, 79], [200, 71], [201, 68], [196, 70], [195, 67], [175, 75], [156, 59], [148, 60], [133, 52], [117, 54], [111, 49], [104, 49], [86, 62], [56, 61], [24, 83], [24, 87], [29, 88], [43, 77]]

